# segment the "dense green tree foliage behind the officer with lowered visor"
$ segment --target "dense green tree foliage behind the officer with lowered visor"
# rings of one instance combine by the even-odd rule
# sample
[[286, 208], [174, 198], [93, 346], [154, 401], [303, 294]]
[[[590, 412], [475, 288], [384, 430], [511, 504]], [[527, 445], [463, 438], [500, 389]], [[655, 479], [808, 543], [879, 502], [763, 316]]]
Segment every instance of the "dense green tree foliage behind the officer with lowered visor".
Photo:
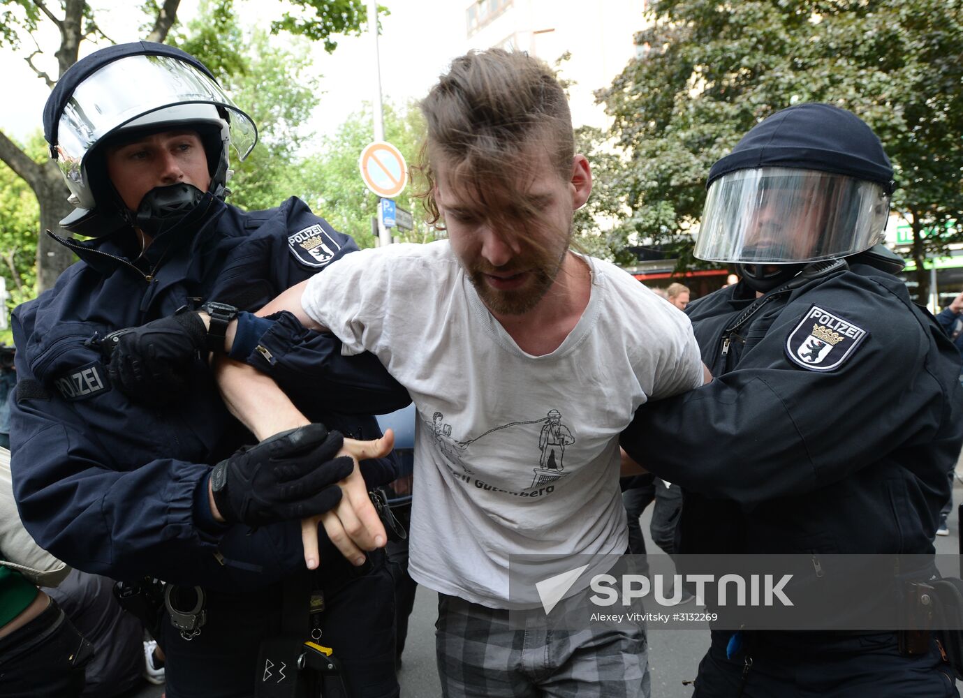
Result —
[[631, 211], [618, 233], [682, 243], [716, 159], [773, 112], [829, 102], [864, 118], [882, 140], [896, 168], [894, 210], [913, 226], [922, 267], [947, 242], [924, 229], [963, 221], [961, 4], [653, 3], [653, 24], [636, 39], [647, 55], [598, 94], [631, 163], [612, 192]]

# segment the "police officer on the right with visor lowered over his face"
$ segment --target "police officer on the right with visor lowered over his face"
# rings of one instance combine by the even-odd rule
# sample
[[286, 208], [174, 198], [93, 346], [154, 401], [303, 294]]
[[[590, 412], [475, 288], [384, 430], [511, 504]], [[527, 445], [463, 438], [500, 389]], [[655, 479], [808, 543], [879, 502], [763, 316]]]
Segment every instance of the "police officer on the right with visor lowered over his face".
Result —
[[[715, 377], [621, 441], [683, 487], [680, 553], [934, 552], [959, 358], [881, 245], [893, 186], [869, 126], [827, 104], [769, 116], [711, 169], [695, 256], [741, 276], [687, 309]], [[903, 573], [881, 588], [932, 569]], [[716, 629], [694, 695], [956, 695], [935, 640], [909, 637]]]

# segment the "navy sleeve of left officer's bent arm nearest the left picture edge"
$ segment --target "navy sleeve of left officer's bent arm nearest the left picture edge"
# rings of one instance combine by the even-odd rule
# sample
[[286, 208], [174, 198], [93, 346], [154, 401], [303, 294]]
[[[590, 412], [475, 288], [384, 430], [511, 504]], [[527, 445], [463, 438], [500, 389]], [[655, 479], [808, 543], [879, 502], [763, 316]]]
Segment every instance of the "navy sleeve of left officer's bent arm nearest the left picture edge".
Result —
[[[20, 306], [13, 318], [11, 471], [24, 527], [42, 548], [115, 580], [149, 575], [225, 591], [263, 587], [303, 565], [298, 522], [205, 528], [195, 502], [210, 465], [183, 457], [200, 450], [194, 432], [114, 390], [67, 401], [35, 375], [24, 349], [31, 332], [20, 322], [26, 315], [32, 325], [32, 309]], [[65, 346], [52, 351], [95, 359]], [[213, 422], [197, 428], [214, 430]]]

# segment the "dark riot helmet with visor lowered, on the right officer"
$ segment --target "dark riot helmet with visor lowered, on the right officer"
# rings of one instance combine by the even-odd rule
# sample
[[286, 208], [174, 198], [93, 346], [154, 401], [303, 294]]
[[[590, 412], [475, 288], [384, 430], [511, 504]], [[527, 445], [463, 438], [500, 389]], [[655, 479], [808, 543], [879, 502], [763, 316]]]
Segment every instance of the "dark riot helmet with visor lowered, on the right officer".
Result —
[[766, 292], [809, 262], [881, 242], [893, 168], [858, 116], [800, 104], [752, 128], [709, 172], [694, 254]]

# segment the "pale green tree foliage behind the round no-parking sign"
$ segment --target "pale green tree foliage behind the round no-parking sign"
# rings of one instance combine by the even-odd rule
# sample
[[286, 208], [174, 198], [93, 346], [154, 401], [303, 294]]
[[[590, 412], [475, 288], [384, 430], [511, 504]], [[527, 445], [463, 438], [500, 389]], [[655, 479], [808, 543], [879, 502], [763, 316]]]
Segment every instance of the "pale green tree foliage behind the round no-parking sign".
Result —
[[[396, 203], [411, 212], [414, 230], [392, 229], [399, 242], [425, 243], [443, 235], [425, 222], [421, 202], [415, 193], [424, 183], [413, 167], [417, 162], [425, 123], [414, 103], [402, 107], [384, 106], [384, 138], [395, 145], [408, 166], [409, 181]], [[299, 166], [301, 197], [335, 228], [350, 234], [362, 247], [376, 245], [371, 219], [377, 215], [378, 197], [361, 180], [358, 157], [372, 142], [374, 127], [370, 109], [351, 115], [334, 133], [325, 136], [316, 155]]]

